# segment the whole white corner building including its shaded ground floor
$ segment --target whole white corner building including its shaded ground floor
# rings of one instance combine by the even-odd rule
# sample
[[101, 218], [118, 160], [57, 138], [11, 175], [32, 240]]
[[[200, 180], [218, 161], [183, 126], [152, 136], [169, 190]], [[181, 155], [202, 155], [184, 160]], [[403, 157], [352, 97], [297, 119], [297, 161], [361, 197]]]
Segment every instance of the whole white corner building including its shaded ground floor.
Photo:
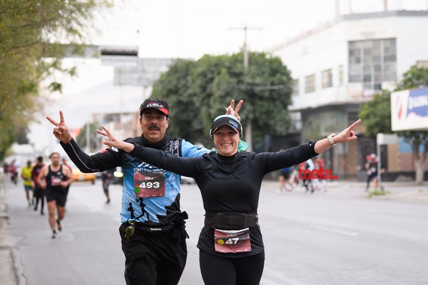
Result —
[[[428, 60], [427, 27], [428, 11], [349, 14], [272, 49], [295, 83], [291, 131], [307, 141], [346, 128], [358, 118], [360, 103], [392, 90], [411, 66]], [[335, 147], [326, 154], [327, 167], [355, 175], [374, 144], [359, 139]]]

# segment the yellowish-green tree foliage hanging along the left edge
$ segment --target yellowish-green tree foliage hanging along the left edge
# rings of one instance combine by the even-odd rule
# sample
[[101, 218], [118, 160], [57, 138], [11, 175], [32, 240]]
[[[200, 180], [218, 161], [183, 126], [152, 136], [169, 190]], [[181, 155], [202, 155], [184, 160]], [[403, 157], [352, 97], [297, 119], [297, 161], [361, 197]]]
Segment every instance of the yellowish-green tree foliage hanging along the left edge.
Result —
[[[111, 7], [108, 0], [0, 2], [0, 160], [18, 138], [26, 141], [28, 122], [46, 104], [40, 83], [55, 71], [75, 74], [61, 65], [60, 41], [83, 41], [95, 13], [105, 7]], [[61, 87], [52, 82], [49, 89]]]

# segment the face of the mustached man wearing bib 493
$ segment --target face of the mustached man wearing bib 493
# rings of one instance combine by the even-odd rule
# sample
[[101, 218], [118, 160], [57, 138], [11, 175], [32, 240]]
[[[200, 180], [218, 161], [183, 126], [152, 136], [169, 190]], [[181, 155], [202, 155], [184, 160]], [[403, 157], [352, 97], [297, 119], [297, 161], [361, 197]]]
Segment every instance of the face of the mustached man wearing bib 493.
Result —
[[143, 136], [151, 143], [157, 143], [165, 136], [168, 117], [157, 109], [146, 109], [141, 114], [140, 127]]

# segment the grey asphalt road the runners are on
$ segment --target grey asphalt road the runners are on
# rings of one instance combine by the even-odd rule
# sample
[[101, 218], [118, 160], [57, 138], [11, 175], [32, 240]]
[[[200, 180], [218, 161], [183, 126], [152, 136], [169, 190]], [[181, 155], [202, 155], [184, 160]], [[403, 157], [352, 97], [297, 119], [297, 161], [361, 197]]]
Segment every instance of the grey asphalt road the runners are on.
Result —
[[[342, 183], [314, 194], [299, 187], [279, 195], [276, 183], [264, 183], [261, 285], [428, 284], [428, 200], [368, 199], [360, 186]], [[28, 208], [23, 186], [6, 181], [8, 243], [19, 285], [125, 284], [118, 236], [121, 186], [110, 186], [110, 195], [105, 204], [100, 181], [72, 184], [64, 229], [51, 239], [47, 215]], [[204, 211], [195, 185], [182, 185], [181, 208], [190, 216], [190, 239], [179, 284], [202, 285], [196, 242]]]

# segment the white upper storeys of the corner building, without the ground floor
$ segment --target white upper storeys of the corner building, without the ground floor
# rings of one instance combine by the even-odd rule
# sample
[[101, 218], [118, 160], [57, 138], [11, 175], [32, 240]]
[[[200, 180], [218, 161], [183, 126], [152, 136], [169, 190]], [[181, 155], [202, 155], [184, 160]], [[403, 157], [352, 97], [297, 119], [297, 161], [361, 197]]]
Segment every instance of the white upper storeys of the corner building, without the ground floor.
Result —
[[278, 47], [296, 80], [292, 110], [371, 98], [428, 59], [428, 11], [343, 15]]

